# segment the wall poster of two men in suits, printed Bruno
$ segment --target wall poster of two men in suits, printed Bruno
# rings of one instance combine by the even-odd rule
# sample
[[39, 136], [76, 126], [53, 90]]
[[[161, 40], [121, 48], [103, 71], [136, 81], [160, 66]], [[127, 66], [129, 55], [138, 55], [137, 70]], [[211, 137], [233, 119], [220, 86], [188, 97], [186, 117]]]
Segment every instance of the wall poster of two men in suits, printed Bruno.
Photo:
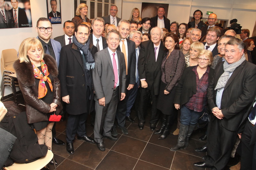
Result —
[[0, 0], [0, 29], [32, 27], [30, 0]]

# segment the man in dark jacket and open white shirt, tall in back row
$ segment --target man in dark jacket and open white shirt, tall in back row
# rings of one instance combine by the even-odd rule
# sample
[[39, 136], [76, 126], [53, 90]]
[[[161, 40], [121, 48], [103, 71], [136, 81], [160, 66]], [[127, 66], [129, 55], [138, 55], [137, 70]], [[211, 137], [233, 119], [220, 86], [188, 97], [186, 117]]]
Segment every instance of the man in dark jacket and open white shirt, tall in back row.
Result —
[[[159, 27], [166, 28], [168, 32], [170, 32], [170, 20], [164, 16], [165, 8], [163, 6], [159, 6], [157, 9], [157, 15], [155, 17], [150, 18], [151, 27]], [[142, 23], [142, 22], [141, 22]]]

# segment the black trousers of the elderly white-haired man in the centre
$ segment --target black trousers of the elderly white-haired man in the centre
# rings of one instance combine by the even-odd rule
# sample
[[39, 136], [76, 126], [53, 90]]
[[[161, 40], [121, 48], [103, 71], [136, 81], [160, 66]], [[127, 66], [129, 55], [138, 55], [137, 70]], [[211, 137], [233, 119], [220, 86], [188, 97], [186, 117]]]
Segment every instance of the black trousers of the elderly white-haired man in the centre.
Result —
[[148, 88], [140, 88], [140, 105], [138, 109], [138, 118], [140, 123], [145, 122], [145, 116], [148, 106], [148, 98], [151, 95], [152, 98], [152, 107], [151, 107], [151, 119], [149, 121], [150, 124], [156, 124], [158, 116], [157, 116], [157, 97], [158, 95], [154, 94], [154, 87], [152, 86], [151, 90]]

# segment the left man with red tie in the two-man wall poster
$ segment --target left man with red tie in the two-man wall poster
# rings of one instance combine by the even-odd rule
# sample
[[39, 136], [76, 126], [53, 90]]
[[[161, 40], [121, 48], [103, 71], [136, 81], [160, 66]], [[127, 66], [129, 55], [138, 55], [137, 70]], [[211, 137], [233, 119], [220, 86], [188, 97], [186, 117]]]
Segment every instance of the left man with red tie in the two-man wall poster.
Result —
[[4, 9], [5, 0], [0, 0], [0, 29], [14, 28], [12, 13]]

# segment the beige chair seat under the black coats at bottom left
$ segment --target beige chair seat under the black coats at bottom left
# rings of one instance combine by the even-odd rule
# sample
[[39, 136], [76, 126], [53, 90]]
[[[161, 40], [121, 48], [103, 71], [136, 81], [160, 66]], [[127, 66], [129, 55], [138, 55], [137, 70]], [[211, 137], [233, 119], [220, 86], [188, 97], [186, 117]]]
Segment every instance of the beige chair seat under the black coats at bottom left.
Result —
[[11, 166], [7, 166], [4, 168], [4, 170], [40, 170], [45, 165], [47, 165], [53, 158], [53, 153], [51, 150], [48, 150], [45, 157], [42, 157], [34, 162], [28, 163], [28, 164], [19, 164], [14, 163]]

